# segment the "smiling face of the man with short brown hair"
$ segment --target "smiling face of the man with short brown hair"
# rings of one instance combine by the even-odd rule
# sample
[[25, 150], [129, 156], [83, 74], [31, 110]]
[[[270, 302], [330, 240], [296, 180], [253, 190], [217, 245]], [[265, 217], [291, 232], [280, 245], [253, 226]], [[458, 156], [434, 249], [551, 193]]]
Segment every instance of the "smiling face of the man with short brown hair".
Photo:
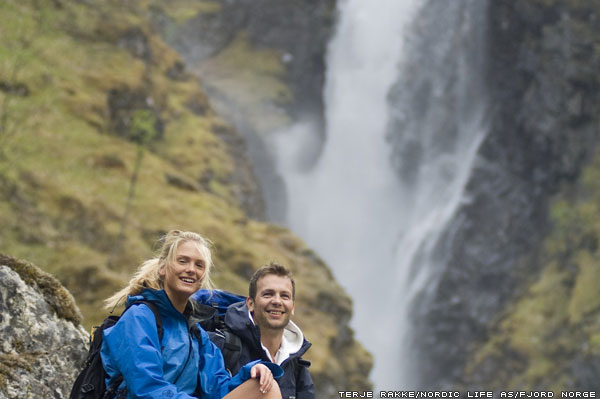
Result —
[[261, 330], [283, 330], [294, 314], [292, 282], [287, 277], [267, 274], [256, 282], [256, 298], [248, 298], [246, 303]]

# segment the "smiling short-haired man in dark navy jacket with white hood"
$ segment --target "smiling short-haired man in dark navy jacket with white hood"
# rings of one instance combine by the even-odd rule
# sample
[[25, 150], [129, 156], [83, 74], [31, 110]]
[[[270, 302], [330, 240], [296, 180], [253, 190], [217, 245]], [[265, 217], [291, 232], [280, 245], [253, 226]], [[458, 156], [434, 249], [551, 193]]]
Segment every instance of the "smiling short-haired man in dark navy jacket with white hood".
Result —
[[[225, 315], [227, 329], [242, 343], [237, 361], [226, 356], [225, 366], [235, 374], [252, 360], [277, 363], [285, 372], [278, 381], [283, 399], [314, 399], [310, 362], [301, 358], [311, 344], [290, 320], [295, 295], [296, 283], [284, 266], [270, 263], [254, 273], [246, 302], [229, 306]], [[211, 339], [223, 349], [223, 334], [211, 334]]]

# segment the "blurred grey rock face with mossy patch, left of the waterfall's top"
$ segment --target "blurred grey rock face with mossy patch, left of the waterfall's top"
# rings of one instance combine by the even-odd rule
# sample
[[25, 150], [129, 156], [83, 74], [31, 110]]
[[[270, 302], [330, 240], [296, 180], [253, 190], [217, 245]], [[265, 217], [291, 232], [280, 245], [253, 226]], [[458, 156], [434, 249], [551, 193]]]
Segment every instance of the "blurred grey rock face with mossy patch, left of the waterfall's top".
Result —
[[246, 138], [270, 221], [284, 220], [286, 200], [265, 136], [308, 119], [323, 137], [325, 53], [335, 3], [221, 0], [184, 23], [154, 15], [213, 106]]

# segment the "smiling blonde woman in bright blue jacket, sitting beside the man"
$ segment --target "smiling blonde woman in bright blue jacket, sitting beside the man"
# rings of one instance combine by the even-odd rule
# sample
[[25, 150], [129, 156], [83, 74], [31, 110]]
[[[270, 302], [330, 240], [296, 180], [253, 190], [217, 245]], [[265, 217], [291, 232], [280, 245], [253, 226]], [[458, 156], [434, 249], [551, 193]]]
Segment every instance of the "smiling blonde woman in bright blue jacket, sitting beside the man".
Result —
[[[208, 242], [193, 232], [170, 231], [159, 256], [144, 262], [129, 285], [106, 300], [111, 308], [127, 297], [127, 311], [104, 332], [101, 357], [106, 386], [115, 397], [142, 399], [280, 399], [269, 367], [251, 362], [231, 377], [220, 350], [200, 325], [189, 321], [189, 297], [211, 287]], [[144, 303], [158, 308], [163, 329]], [[198, 329], [194, 332], [194, 329]], [[122, 381], [121, 381], [122, 379]]]

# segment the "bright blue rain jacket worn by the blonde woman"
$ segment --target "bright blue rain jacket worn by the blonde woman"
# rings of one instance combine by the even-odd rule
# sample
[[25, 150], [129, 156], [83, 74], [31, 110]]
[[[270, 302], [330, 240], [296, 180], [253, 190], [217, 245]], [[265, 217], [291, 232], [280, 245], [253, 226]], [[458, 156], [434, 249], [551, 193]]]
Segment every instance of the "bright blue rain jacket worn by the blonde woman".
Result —
[[[141, 299], [158, 306], [164, 330], [161, 342], [152, 310], [141, 303], [132, 305]], [[129, 399], [192, 399], [198, 383], [199, 398], [220, 399], [250, 378], [250, 369], [258, 363], [246, 364], [231, 377], [206, 331], [197, 325], [199, 344], [187, 318], [173, 307], [164, 290], [145, 289], [129, 297], [127, 306], [131, 308], [117, 324], [104, 331], [100, 353], [108, 374], [106, 385], [122, 374], [119, 389], [126, 386]]]

